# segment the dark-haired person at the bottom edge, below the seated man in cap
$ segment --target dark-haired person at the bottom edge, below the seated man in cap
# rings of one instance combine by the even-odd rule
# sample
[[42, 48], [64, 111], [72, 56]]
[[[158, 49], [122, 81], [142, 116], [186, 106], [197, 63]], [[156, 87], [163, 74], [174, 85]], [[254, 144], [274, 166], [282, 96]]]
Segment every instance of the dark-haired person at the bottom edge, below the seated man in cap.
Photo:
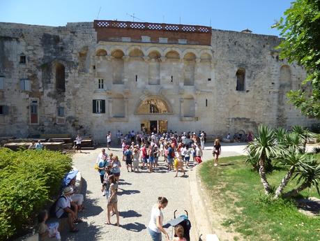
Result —
[[38, 214], [38, 234], [40, 241], [50, 240], [50, 241], [60, 241], [60, 233], [58, 231], [59, 223], [53, 223], [52, 228], [50, 229], [45, 221], [48, 219], [47, 210], [43, 210]]

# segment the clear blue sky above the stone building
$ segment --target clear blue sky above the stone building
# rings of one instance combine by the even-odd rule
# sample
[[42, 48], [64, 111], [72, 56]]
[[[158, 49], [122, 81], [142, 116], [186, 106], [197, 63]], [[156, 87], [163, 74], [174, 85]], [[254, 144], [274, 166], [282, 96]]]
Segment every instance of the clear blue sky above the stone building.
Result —
[[[271, 29], [292, 0], [0, 0], [0, 22], [64, 26], [67, 22], [131, 21], [206, 25], [213, 29], [279, 35]], [[100, 8], [101, 7], [101, 8]], [[140, 22], [140, 20], [135, 20]]]

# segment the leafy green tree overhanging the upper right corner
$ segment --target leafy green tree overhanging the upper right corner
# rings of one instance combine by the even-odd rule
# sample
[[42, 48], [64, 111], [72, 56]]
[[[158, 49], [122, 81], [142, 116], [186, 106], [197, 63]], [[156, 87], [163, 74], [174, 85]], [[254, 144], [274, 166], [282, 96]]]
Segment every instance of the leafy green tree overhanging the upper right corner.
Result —
[[310, 83], [312, 93], [291, 90], [288, 97], [303, 115], [320, 119], [320, 0], [296, 0], [273, 27], [284, 40], [280, 58], [296, 62], [307, 71], [303, 85]]

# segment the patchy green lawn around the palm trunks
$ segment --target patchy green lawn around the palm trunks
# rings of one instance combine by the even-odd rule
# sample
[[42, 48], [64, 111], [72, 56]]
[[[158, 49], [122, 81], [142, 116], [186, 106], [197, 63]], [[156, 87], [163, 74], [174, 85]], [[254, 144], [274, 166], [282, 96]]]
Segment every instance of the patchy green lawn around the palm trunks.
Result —
[[[301, 214], [294, 200], [267, 198], [259, 173], [245, 165], [245, 156], [221, 158], [219, 163], [215, 168], [208, 161], [199, 171], [211, 191], [213, 207], [228, 217], [222, 223], [225, 228], [242, 233], [245, 240], [320, 240], [320, 217]], [[285, 173], [275, 170], [267, 175], [268, 181], [277, 186]], [[296, 180], [284, 191], [293, 187]], [[301, 194], [319, 198], [315, 188]]]

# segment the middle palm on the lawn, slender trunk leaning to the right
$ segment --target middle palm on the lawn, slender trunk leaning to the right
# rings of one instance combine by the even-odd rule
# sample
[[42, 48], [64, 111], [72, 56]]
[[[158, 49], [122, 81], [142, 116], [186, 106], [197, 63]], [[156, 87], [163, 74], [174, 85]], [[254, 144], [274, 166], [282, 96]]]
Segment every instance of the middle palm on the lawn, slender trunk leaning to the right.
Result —
[[302, 165], [307, 160], [307, 154], [300, 154], [299, 149], [295, 147], [290, 147], [289, 149], [284, 149], [277, 159], [275, 159], [276, 163], [281, 166], [289, 168], [287, 174], [282, 178], [282, 181], [275, 190], [274, 198], [279, 198], [284, 187], [287, 186], [291, 176], [294, 174], [294, 171], [299, 165]]

